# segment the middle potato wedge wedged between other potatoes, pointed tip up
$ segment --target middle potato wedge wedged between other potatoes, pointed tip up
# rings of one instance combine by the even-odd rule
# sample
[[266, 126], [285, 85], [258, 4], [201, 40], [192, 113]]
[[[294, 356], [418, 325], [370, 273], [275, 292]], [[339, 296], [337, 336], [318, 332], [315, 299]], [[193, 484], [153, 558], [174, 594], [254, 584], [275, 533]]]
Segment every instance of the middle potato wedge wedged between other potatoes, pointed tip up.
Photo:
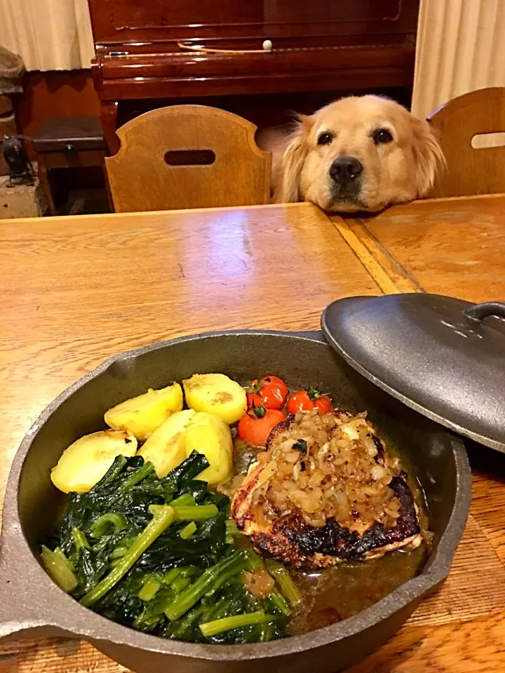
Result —
[[186, 458], [185, 432], [195, 415], [193, 409], [176, 412], [147, 437], [138, 451], [144, 461], [152, 462], [159, 477], [168, 475]]

